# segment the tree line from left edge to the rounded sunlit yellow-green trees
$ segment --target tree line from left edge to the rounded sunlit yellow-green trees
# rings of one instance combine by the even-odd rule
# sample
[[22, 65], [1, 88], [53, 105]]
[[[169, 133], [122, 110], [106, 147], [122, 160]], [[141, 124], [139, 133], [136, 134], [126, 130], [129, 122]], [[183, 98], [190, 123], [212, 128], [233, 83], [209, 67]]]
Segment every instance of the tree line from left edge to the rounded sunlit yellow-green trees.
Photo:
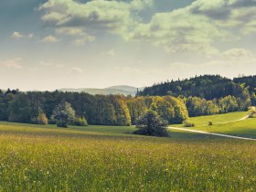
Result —
[[[62, 104], [61, 104], [62, 103]], [[17, 123], [130, 125], [152, 110], [168, 123], [182, 123], [187, 108], [174, 97], [124, 97], [61, 91], [0, 91], [0, 121]]]

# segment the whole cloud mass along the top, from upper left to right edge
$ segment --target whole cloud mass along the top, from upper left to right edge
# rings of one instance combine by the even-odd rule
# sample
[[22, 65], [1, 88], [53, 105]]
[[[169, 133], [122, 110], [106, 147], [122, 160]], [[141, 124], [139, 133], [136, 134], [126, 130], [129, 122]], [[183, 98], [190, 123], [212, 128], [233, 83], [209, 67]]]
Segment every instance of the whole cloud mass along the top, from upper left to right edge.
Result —
[[39, 10], [45, 12], [42, 20], [46, 25], [76, 37], [74, 45], [84, 45], [88, 36], [107, 32], [168, 53], [189, 51], [211, 57], [219, 54], [216, 42], [237, 40], [256, 31], [254, 0], [196, 0], [183, 8], [155, 13], [146, 23], [140, 13], [154, 4], [153, 0], [49, 0]]

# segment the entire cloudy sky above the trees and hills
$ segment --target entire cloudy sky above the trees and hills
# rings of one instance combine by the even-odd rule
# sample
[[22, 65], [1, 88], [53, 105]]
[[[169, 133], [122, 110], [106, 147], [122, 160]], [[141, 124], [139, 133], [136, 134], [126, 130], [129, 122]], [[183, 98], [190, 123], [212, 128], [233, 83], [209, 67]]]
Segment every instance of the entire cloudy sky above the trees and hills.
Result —
[[0, 1], [0, 89], [255, 75], [256, 0]]

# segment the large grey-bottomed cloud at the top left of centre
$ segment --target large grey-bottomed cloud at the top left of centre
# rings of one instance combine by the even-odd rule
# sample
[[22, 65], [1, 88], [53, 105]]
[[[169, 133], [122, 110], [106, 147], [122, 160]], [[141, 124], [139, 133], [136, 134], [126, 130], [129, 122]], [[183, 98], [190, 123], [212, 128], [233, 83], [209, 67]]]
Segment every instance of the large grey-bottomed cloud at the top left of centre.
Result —
[[106, 31], [125, 36], [140, 20], [137, 14], [132, 13], [152, 5], [153, 0], [97, 0], [83, 4], [72, 0], [49, 0], [39, 10], [45, 11], [42, 20], [46, 25], [55, 27], [60, 33], [80, 36]]

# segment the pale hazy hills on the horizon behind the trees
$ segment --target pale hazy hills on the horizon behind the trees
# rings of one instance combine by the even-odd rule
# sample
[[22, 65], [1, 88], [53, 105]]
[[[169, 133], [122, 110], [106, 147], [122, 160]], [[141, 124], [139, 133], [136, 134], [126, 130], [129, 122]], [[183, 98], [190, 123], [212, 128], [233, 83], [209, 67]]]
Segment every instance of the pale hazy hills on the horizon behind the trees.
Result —
[[[143, 88], [139, 88], [139, 91], [142, 91]], [[125, 96], [127, 95], [132, 95], [135, 96], [137, 92], [137, 88], [128, 86], [128, 85], [117, 85], [117, 86], [112, 86], [108, 87], [105, 89], [94, 89], [94, 88], [79, 88], [79, 89], [72, 89], [72, 88], [62, 88], [59, 91], [70, 91], [70, 92], [87, 92], [91, 95], [96, 95], [96, 94], [102, 94], [102, 95], [118, 95], [118, 94], [123, 94]]]

